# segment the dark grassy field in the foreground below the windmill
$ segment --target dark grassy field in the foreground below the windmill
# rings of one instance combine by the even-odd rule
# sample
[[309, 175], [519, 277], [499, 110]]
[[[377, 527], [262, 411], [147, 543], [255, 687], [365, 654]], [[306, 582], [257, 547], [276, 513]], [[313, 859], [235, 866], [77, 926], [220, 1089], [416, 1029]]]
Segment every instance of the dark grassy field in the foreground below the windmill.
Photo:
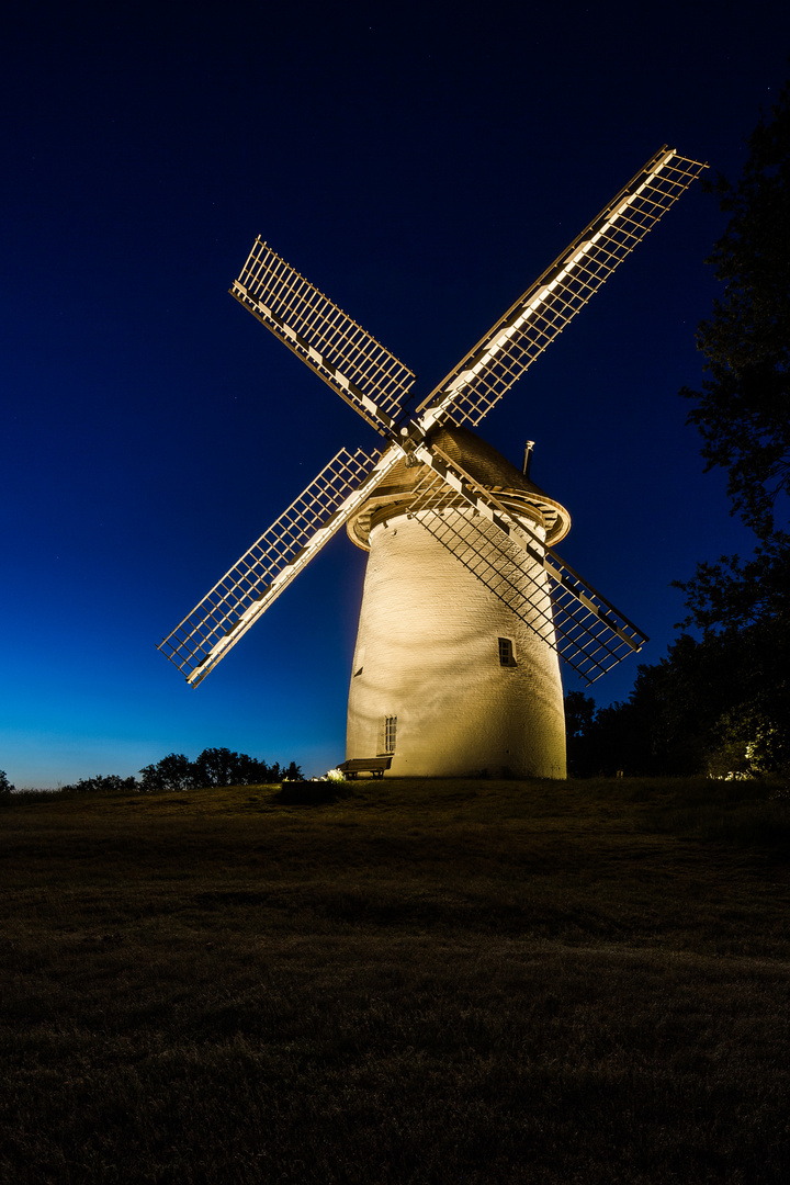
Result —
[[786, 1183], [789, 813], [629, 780], [8, 808], [1, 1179]]

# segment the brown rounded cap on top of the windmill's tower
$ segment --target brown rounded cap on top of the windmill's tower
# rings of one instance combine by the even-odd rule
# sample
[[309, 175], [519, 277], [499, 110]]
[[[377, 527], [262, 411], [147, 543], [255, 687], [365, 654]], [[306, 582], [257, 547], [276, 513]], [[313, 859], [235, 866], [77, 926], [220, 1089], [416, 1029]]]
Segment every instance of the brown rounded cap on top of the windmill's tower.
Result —
[[[542, 527], [550, 546], [564, 539], [570, 531], [571, 515], [565, 507], [529, 478], [525, 478], [493, 444], [469, 428], [457, 428], [455, 424], [437, 428], [430, 436], [430, 443], [438, 446], [475, 481], [495, 494], [509, 511]], [[424, 465], [407, 468], [405, 459], [399, 462], [349, 520], [347, 531], [352, 543], [368, 551], [371, 529], [387, 515], [409, 510], [412, 492], [426, 472]]]

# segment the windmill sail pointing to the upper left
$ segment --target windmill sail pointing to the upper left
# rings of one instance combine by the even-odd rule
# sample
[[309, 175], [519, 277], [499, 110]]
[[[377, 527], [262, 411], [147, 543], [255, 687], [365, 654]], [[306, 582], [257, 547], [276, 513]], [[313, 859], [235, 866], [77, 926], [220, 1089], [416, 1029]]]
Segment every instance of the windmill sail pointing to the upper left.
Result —
[[383, 436], [415, 374], [259, 237], [231, 296]]

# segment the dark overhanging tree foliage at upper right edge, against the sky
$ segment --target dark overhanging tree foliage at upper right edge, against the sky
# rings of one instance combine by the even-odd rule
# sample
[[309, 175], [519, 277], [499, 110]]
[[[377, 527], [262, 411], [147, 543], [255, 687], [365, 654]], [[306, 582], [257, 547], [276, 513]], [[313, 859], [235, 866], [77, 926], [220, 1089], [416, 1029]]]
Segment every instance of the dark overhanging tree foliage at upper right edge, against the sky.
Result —
[[681, 391], [696, 402], [687, 422], [706, 470], [727, 469], [733, 513], [760, 538], [790, 493], [790, 85], [771, 114], [749, 140], [740, 180], [715, 182], [731, 218], [707, 262], [725, 288], [698, 329], [709, 378]]

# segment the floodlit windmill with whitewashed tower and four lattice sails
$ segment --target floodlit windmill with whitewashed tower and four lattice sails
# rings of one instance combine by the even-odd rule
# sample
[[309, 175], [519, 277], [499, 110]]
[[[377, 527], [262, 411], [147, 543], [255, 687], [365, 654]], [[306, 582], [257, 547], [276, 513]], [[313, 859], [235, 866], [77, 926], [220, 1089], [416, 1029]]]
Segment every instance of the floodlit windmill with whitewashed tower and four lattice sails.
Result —
[[647, 638], [554, 551], [570, 515], [528, 455], [471, 429], [705, 167], [662, 147], [416, 408], [415, 374], [256, 241], [231, 294], [385, 444], [340, 449], [163, 639], [191, 686], [345, 526], [370, 551], [347, 763], [565, 776], [559, 659], [592, 683]]

